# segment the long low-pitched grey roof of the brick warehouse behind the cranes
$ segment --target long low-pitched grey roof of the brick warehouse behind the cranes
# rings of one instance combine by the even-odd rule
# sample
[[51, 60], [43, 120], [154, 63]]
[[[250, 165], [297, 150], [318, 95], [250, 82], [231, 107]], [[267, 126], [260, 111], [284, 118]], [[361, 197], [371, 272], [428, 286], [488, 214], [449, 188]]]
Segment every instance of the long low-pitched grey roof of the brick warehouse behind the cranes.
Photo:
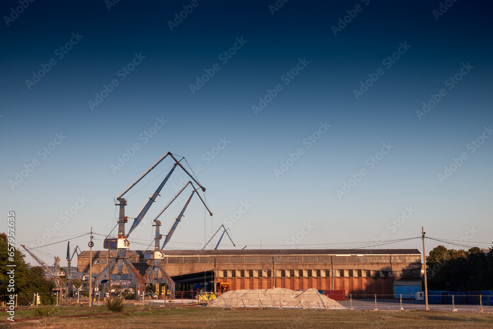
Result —
[[[241, 256], [241, 255], [420, 255], [418, 249], [244, 249], [244, 250], [163, 250], [167, 256]], [[127, 256], [143, 256], [144, 251], [129, 250]], [[107, 250], [93, 251], [93, 257], [104, 257]], [[116, 251], [110, 252], [111, 257]], [[89, 257], [89, 251], [83, 251], [78, 257]]]

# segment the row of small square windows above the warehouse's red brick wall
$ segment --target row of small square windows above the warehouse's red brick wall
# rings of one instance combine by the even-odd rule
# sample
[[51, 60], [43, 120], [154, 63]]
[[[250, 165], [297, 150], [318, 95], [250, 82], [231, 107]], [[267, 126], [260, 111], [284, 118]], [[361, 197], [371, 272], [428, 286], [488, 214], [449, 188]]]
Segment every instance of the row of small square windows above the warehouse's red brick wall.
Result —
[[[219, 270], [218, 276], [223, 278], [310, 278], [310, 277], [388, 277], [388, 271], [371, 270]], [[333, 272], [333, 274], [332, 274]]]

